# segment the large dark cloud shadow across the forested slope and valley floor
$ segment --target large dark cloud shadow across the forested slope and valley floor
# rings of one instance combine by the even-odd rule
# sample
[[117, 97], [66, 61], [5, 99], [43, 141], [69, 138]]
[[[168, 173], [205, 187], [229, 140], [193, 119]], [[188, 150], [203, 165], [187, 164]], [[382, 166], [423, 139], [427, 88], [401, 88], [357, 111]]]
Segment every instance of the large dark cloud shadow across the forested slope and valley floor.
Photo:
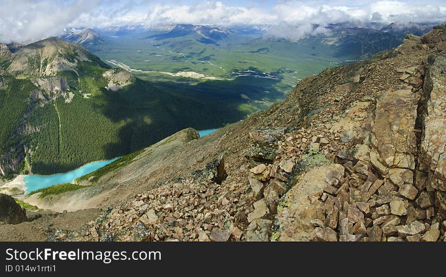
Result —
[[113, 92], [102, 89], [94, 109], [119, 126], [116, 140], [104, 146], [106, 159], [150, 146], [187, 127], [222, 127], [267, 109], [285, 94], [279, 80], [238, 77], [191, 82], [156, 80], [135, 83]]

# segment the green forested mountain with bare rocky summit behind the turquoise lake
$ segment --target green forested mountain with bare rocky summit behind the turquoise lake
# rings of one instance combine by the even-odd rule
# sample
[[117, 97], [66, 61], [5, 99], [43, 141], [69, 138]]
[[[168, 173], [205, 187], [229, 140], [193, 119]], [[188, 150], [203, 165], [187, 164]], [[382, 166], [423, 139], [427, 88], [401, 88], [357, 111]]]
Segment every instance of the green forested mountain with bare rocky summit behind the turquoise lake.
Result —
[[[0, 69], [0, 168], [53, 174], [131, 153], [212, 111], [111, 70], [80, 46], [48, 39]], [[6, 175], [6, 174], [3, 174]]]

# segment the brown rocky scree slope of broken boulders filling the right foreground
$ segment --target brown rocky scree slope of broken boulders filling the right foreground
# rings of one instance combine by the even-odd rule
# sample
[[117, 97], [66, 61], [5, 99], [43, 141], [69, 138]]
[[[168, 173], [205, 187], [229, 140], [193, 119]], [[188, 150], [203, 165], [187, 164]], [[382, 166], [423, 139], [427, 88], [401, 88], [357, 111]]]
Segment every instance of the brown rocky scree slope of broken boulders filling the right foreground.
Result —
[[443, 241], [445, 51], [437, 26], [306, 78], [283, 103], [189, 142], [164, 171], [123, 182], [133, 196], [49, 239]]

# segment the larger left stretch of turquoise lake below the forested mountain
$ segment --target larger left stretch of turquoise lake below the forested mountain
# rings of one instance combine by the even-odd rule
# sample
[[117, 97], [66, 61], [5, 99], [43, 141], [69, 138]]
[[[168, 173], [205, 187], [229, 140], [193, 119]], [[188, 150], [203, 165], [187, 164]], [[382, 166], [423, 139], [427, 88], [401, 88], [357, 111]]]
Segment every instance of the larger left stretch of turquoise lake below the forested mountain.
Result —
[[24, 178], [26, 192], [29, 193], [34, 190], [46, 188], [52, 185], [71, 183], [76, 178], [89, 174], [111, 162], [116, 161], [118, 158], [114, 158], [106, 161], [96, 161], [87, 163], [78, 169], [53, 175], [30, 175]]

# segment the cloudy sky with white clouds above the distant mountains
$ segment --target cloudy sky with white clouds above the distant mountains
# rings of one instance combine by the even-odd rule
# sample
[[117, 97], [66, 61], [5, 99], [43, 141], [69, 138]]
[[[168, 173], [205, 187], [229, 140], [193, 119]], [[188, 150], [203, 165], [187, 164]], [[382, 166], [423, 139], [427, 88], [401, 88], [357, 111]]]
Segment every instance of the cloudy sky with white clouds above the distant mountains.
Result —
[[32, 42], [67, 27], [157, 24], [272, 25], [298, 38], [311, 24], [446, 22], [444, 0], [0, 0], [0, 42]]

